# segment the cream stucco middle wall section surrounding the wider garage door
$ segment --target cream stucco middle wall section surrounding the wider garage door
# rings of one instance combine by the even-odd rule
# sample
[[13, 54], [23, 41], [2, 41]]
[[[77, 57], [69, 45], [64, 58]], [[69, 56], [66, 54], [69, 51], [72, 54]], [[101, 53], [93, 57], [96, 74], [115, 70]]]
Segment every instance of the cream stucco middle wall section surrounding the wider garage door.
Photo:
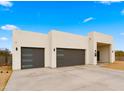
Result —
[[[86, 64], [89, 62], [88, 58], [88, 38], [74, 35], [65, 32], [51, 31], [49, 32], [51, 37], [51, 67], [56, 67], [56, 48], [73, 48], [73, 49], [85, 49], [86, 50]], [[55, 49], [55, 51], [54, 51]]]

